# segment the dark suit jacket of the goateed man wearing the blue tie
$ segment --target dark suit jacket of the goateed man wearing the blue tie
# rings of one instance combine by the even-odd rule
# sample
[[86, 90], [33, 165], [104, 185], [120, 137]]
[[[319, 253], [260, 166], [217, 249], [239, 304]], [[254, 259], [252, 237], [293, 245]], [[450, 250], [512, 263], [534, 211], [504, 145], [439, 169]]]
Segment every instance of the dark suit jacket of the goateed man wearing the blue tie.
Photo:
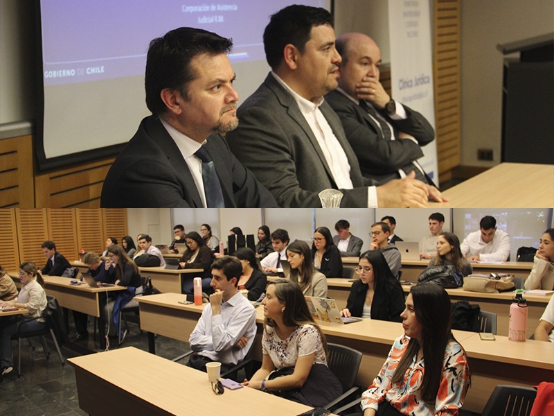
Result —
[[[213, 159], [226, 207], [277, 207], [256, 177], [229, 151], [220, 135], [204, 144]], [[118, 155], [102, 187], [102, 207], [200, 207], [193, 175], [161, 121], [143, 119]]]

